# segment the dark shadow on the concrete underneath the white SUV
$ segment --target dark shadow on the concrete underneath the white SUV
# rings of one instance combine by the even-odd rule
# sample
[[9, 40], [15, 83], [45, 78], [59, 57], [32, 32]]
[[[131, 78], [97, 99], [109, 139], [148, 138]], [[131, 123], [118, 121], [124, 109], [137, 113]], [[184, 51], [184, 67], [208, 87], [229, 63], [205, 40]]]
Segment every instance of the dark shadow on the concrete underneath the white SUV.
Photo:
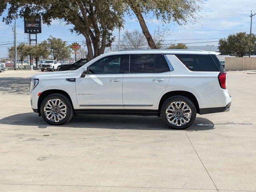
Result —
[[[36, 113], [15, 114], [0, 119], [0, 124], [36, 126], [38, 128], [52, 127], [44, 122]], [[61, 125], [65, 128], [105, 128], [131, 130], [171, 130], [157, 116], [117, 116], [117, 115], [74, 115], [70, 122]], [[214, 124], [207, 118], [198, 117], [187, 131], [212, 130]]]

